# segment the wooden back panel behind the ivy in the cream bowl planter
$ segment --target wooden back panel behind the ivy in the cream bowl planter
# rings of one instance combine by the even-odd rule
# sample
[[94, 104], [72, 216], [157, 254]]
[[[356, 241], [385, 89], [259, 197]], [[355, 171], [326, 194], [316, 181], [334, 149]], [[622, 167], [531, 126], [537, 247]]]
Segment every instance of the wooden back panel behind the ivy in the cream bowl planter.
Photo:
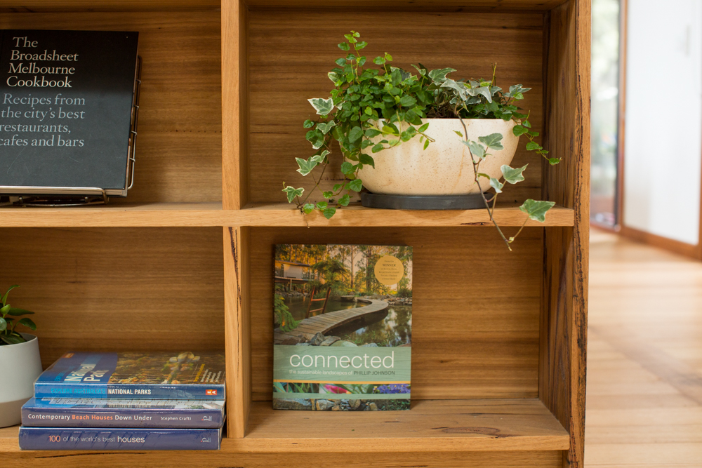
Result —
[[[522, 107], [531, 109], [531, 123], [541, 129], [541, 14], [250, 11], [252, 203], [285, 201], [282, 182], [307, 190], [314, 185], [310, 177], [296, 172], [295, 162], [296, 157], [307, 159], [314, 152], [303, 128], [303, 121], [314, 116], [307, 99], [328, 95], [333, 85], [326, 74], [343, 55], [336, 44], [350, 29], [359, 29], [358, 25], [363, 25], [362, 39], [369, 43], [365, 55], [373, 58], [388, 51], [397, 67], [412, 69], [411, 64], [417, 62], [430, 69], [451, 66], [458, 69], [456, 76], [479, 78], [491, 75], [491, 64], [497, 62], [498, 85], [522, 83], [533, 88]], [[512, 166], [527, 163], [526, 180], [505, 188], [503, 200], [538, 199], [541, 164], [538, 155], [527, 154], [522, 142]], [[336, 161], [327, 168], [323, 187], [331, 189], [340, 180], [339, 167]]]

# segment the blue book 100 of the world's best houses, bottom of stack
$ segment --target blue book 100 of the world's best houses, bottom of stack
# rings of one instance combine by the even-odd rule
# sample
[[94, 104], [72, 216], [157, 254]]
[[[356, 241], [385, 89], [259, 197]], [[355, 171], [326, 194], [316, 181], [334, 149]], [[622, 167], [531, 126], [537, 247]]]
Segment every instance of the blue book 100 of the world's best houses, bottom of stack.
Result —
[[219, 450], [222, 429], [20, 427], [22, 450]]

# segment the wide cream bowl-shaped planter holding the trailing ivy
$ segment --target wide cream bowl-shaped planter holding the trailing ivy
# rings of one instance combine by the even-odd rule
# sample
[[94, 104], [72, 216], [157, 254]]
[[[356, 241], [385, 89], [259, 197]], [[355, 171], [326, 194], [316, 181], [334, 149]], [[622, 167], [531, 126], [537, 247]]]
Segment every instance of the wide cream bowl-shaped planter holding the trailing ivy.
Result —
[[[496, 179], [502, 178], [500, 170], [503, 164], [512, 162], [517, 151], [519, 137], [512, 133], [515, 121], [502, 119], [463, 119], [467, 132], [459, 119], [422, 119], [429, 123], [425, 132], [435, 142], [424, 149], [424, 142], [416, 136], [408, 142], [401, 142], [396, 147], [383, 149], [372, 154], [376, 167], [364, 166], [359, 171], [359, 178], [364, 187], [374, 194], [385, 195], [468, 195], [479, 193], [475, 183], [470, 152], [456, 135], [468, 134], [468, 139], [475, 142], [478, 137], [501, 133], [504, 149], [489, 150], [490, 156], [480, 163], [479, 172]], [[403, 123], [400, 131], [407, 125]], [[373, 138], [374, 142], [383, 140], [383, 135]], [[386, 138], [390, 139], [390, 138]], [[481, 178], [483, 192], [490, 188], [490, 182]]]

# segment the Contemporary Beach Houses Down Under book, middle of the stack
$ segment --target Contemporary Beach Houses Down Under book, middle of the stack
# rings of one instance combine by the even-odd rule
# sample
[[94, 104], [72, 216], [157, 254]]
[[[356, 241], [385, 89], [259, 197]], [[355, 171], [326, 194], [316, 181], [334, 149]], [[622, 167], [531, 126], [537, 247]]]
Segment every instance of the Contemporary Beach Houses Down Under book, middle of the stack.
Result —
[[32, 398], [22, 425], [32, 427], [157, 427], [218, 429], [224, 401]]

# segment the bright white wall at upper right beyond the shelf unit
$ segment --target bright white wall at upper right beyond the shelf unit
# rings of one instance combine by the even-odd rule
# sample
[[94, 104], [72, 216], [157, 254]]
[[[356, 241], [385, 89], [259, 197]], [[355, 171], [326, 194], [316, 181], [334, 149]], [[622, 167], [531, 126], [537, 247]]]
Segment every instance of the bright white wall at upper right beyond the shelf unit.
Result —
[[623, 225], [699, 239], [702, 1], [628, 0]]

